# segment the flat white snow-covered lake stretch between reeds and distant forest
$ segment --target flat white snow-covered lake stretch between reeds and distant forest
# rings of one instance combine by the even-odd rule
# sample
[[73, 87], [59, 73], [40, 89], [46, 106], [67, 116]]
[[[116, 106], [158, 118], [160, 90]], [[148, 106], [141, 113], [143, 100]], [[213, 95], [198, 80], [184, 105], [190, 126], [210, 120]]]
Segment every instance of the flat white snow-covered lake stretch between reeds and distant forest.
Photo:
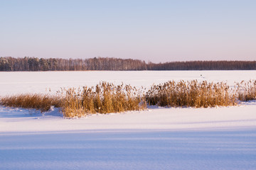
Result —
[[93, 71], [93, 72], [0, 72], [0, 96], [40, 92], [60, 87], [94, 86], [100, 81], [149, 87], [169, 80], [235, 81], [256, 79], [256, 71]]

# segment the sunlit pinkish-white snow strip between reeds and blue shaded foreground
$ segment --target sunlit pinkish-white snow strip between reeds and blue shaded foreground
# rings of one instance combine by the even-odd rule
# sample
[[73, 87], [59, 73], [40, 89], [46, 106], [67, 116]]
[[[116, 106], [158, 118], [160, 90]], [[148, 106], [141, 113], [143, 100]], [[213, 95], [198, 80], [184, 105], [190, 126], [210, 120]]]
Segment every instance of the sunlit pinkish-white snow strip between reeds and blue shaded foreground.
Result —
[[147, 111], [94, 114], [65, 119], [58, 108], [40, 111], [0, 108], [0, 132], [55, 132], [71, 130], [210, 130], [254, 128], [255, 101], [218, 108], [149, 108]]

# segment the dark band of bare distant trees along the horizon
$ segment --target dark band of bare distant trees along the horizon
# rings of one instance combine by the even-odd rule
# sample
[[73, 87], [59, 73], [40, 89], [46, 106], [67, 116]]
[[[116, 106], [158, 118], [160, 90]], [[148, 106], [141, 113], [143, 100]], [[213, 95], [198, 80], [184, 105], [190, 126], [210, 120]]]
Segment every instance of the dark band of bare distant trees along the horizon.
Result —
[[94, 57], [61, 59], [37, 57], [0, 57], [1, 72], [16, 71], [85, 71], [85, 70], [250, 70], [256, 61], [192, 61], [146, 63], [142, 60]]

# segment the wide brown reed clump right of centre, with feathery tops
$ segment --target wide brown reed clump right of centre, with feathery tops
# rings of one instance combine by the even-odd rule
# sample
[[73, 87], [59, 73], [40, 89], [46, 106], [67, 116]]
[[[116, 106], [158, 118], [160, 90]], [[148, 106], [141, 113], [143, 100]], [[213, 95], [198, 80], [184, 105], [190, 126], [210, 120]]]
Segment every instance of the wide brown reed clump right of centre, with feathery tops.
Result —
[[146, 101], [149, 105], [195, 108], [236, 104], [235, 94], [227, 84], [197, 80], [168, 81], [151, 86], [146, 92]]

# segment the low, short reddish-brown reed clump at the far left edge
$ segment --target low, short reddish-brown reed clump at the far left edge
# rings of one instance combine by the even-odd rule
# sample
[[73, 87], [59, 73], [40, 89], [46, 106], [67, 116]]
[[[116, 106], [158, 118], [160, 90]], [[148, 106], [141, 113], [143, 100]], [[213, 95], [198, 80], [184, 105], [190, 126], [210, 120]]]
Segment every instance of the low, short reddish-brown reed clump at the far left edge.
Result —
[[35, 108], [41, 112], [46, 112], [50, 110], [50, 106], [59, 108], [62, 100], [59, 96], [49, 94], [18, 94], [1, 97], [0, 104], [12, 108]]

